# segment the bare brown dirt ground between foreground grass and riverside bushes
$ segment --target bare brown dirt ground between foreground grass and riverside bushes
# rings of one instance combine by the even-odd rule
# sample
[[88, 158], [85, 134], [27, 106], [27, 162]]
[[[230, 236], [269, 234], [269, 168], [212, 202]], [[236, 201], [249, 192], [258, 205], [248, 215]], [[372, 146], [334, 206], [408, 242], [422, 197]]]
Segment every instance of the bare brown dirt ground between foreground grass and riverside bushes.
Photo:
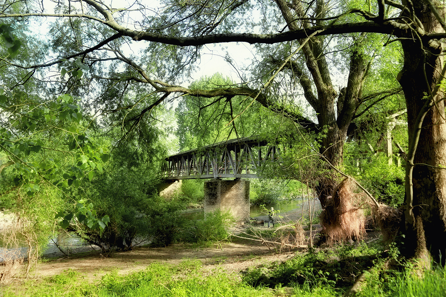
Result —
[[[132, 251], [114, 252], [109, 256], [93, 252], [88, 255], [47, 260], [37, 266], [37, 270], [31, 274], [31, 277], [48, 277], [60, 274], [66, 269], [73, 269], [85, 274], [86, 278], [92, 281], [112, 270], [124, 275], [145, 269], [155, 262], [178, 264], [185, 259], [201, 260], [208, 271], [223, 268], [228, 272], [239, 272], [259, 264], [282, 262], [294, 256], [295, 253], [296, 251], [283, 250], [281, 253], [276, 253], [265, 245], [239, 243], [216, 244], [213, 247], [199, 248], [187, 248], [185, 245], [177, 244], [166, 248], [137, 247]], [[23, 269], [25, 269], [25, 264]]]

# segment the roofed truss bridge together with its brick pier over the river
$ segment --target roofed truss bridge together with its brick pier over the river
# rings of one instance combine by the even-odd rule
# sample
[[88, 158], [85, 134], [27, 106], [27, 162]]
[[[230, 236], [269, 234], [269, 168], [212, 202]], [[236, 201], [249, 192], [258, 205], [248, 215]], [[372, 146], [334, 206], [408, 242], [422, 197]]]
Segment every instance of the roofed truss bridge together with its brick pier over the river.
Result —
[[280, 154], [278, 146], [256, 136], [185, 151], [165, 159], [162, 178], [168, 187], [164, 191], [178, 190], [182, 179], [210, 179], [204, 183], [205, 215], [217, 209], [229, 210], [237, 220], [246, 220], [250, 182], [242, 178], [258, 178], [267, 162], [280, 162]]

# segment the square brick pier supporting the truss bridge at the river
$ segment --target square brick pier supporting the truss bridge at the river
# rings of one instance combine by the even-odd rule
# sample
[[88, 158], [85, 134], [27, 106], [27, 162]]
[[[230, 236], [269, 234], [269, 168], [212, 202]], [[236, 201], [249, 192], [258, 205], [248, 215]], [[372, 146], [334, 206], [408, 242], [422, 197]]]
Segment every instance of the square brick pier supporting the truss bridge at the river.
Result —
[[211, 179], [204, 182], [203, 207], [207, 212], [229, 210], [237, 221], [249, 220], [249, 180]]

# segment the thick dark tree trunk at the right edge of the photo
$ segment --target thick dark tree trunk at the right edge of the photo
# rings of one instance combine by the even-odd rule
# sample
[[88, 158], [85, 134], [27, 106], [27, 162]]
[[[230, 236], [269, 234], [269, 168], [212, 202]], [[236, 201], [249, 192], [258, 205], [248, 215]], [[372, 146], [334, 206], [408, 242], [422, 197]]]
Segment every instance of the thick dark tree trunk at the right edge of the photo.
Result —
[[[414, 1], [414, 11], [428, 33], [444, 32], [429, 8], [421, 0]], [[409, 33], [412, 34], [412, 33]], [[413, 35], [410, 35], [413, 38]], [[404, 90], [409, 126], [409, 150], [415, 145], [416, 119], [438, 84], [442, 72], [444, 49], [440, 41], [429, 41], [420, 48], [418, 40], [401, 42], [404, 50], [404, 67], [399, 75]], [[424, 73], [426, 74], [427, 81]], [[442, 90], [433, 94], [438, 100], [444, 96]], [[445, 259], [446, 249], [446, 123], [445, 102], [430, 108], [422, 122], [417, 148], [414, 155], [412, 180], [413, 195], [406, 190], [405, 212], [402, 229], [405, 238], [401, 241], [406, 256], [428, 259], [428, 251], [439, 260]], [[410, 164], [407, 165], [407, 171]], [[406, 187], [407, 189], [408, 187]]]

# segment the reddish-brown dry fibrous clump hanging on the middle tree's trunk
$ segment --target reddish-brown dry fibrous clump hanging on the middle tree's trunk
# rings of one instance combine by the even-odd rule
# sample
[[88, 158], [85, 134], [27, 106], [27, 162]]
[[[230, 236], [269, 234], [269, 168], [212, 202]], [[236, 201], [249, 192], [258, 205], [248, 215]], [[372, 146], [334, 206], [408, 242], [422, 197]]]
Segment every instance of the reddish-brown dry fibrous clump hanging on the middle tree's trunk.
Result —
[[365, 235], [365, 216], [361, 208], [356, 207], [358, 194], [351, 191], [351, 181], [345, 178], [327, 199], [326, 207], [319, 218], [322, 233], [329, 243], [357, 239]]

